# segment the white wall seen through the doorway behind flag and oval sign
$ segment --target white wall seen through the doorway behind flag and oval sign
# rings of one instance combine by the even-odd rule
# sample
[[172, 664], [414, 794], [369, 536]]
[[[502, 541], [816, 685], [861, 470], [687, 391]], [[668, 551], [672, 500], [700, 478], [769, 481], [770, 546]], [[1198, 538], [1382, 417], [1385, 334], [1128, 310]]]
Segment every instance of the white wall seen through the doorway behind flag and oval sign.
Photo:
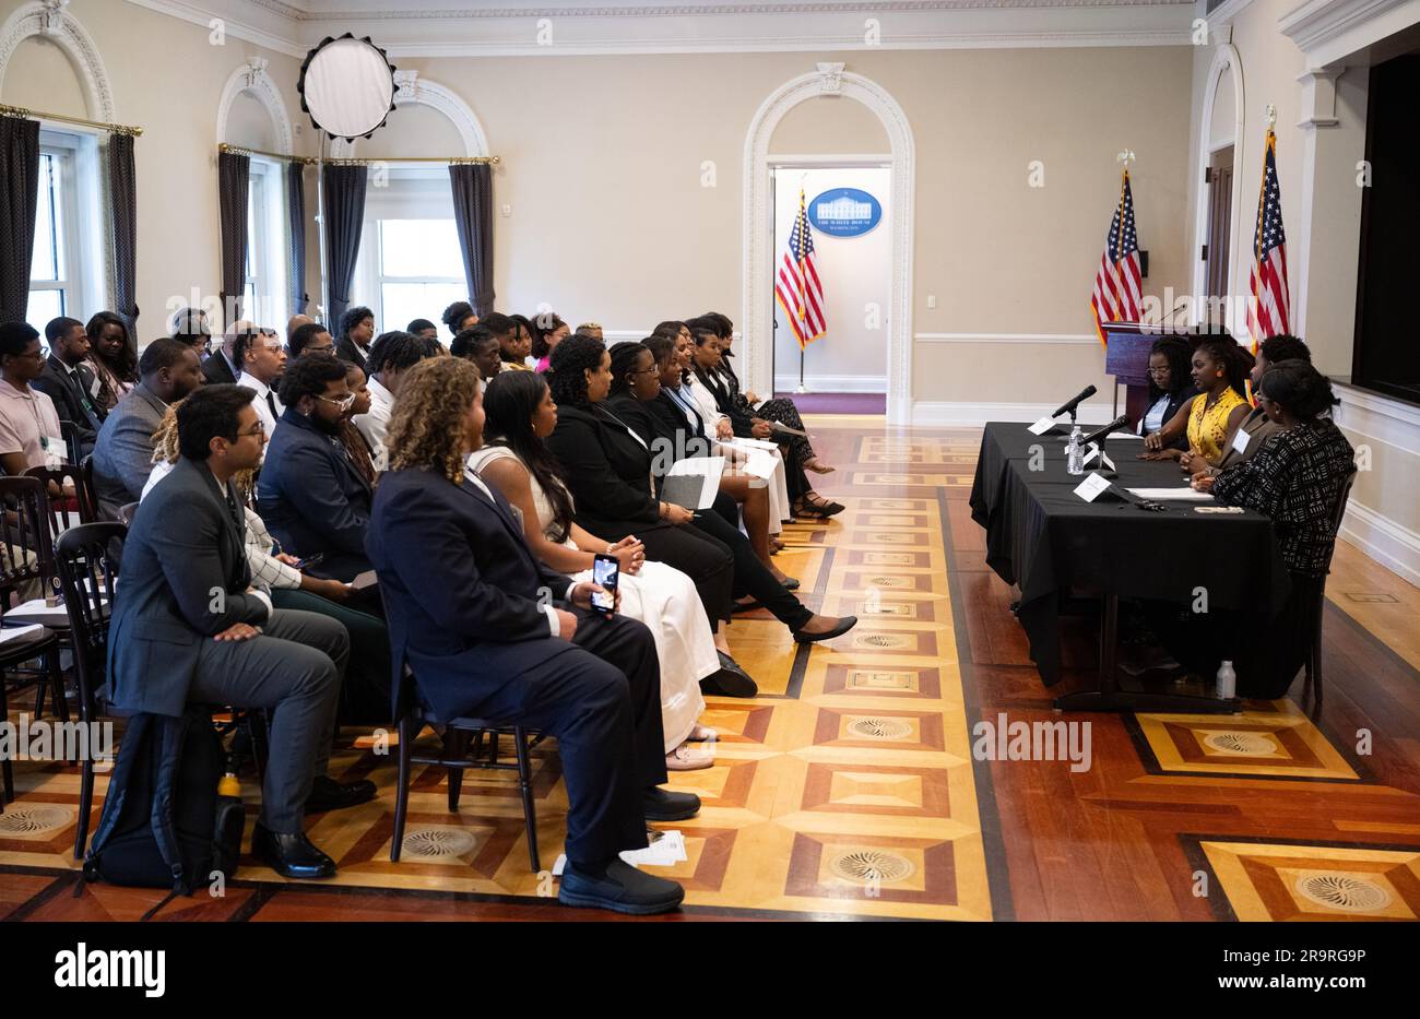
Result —
[[[826, 302], [824, 315], [828, 335], [809, 343], [804, 351], [804, 385], [811, 393], [888, 392], [892, 170], [880, 166], [778, 167], [774, 180], [775, 268], [782, 263], [790, 233], [794, 230], [801, 186], [808, 203], [835, 187], [856, 187], [882, 203], [883, 217], [866, 234], [832, 237], [814, 230], [814, 251]], [[873, 314], [876, 325], [869, 319]], [[778, 304], [774, 307], [774, 387], [781, 393], [791, 392], [799, 379], [799, 345]]]

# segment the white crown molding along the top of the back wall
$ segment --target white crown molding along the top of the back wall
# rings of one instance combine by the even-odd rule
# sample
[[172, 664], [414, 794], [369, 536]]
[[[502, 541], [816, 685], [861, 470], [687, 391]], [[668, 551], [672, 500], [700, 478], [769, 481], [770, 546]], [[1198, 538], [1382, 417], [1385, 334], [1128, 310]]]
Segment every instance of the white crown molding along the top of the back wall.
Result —
[[[886, 0], [659, 3], [598, 7], [341, 10], [284, 0], [126, 0], [233, 38], [302, 57], [334, 30], [372, 35], [390, 57], [586, 57], [1187, 45], [1187, 0]], [[866, 41], [869, 18], [878, 38]], [[550, 21], [555, 44], [540, 40]], [[541, 44], [540, 44], [541, 43]]]

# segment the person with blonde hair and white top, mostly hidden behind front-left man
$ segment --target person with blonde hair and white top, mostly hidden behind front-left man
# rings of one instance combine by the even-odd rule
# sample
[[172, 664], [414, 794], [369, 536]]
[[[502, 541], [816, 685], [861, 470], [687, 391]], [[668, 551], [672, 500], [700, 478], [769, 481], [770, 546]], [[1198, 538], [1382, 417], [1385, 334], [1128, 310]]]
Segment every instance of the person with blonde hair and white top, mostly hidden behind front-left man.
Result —
[[[178, 407], [182, 400], [168, 404], [163, 420], [153, 433], [153, 473], [143, 485], [143, 498], [172, 471], [180, 456], [178, 450]], [[240, 471], [233, 481], [237, 491], [250, 498], [256, 471]], [[383, 725], [389, 722], [389, 627], [383, 619], [358, 612], [345, 602], [351, 586], [301, 572], [300, 559], [277, 549], [277, 541], [267, 531], [266, 521], [243, 505], [247, 518], [247, 566], [251, 586], [271, 597], [275, 609], [317, 612], [341, 623], [351, 636], [351, 659], [341, 684], [341, 721], [349, 725]]]

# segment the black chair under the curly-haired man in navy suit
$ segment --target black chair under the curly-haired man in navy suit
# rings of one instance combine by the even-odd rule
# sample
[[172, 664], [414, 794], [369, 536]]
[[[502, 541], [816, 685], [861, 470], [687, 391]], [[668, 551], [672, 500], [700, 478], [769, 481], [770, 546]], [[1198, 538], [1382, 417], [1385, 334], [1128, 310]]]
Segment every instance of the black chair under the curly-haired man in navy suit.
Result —
[[[542, 735], [523, 725], [498, 725], [483, 718], [436, 718], [419, 704], [415, 691], [415, 677], [405, 668], [396, 697], [399, 705], [399, 786], [395, 792], [395, 835], [389, 844], [389, 861], [399, 863], [405, 844], [405, 817], [409, 810], [410, 765], [439, 765], [449, 769], [449, 812], [459, 812], [459, 793], [466, 768], [484, 771], [515, 771], [523, 792], [523, 820], [528, 833], [528, 861], [532, 873], [542, 870], [537, 852], [537, 808], [532, 803], [532, 766], [528, 751], [541, 742]], [[415, 756], [415, 738], [425, 725], [442, 727], [443, 754], [439, 756]], [[501, 735], [513, 737], [515, 764], [498, 761]], [[487, 747], [484, 741], [487, 739]]]

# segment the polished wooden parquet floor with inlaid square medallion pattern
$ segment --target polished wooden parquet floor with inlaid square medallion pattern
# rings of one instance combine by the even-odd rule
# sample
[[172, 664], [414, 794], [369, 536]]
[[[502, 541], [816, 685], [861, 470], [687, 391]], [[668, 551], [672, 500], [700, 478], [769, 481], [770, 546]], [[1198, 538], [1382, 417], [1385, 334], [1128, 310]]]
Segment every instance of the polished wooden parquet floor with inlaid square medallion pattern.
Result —
[[[778, 556], [805, 602], [862, 617], [798, 647], [767, 613], [738, 616], [754, 700], [711, 698], [716, 765], [673, 776], [704, 809], [674, 826], [687, 888], [672, 920], [1414, 920], [1420, 914], [1420, 592], [1338, 553], [1319, 720], [1292, 701], [1240, 717], [1055, 715], [971, 522], [980, 433], [809, 420], [838, 466], [819, 490], [848, 510], [795, 524]], [[1086, 622], [1065, 634], [1064, 687], [1095, 667]], [[1298, 694], [1301, 684], [1296, 685]], [[17, 714], [16, 701], [11, 710]], [[978, 722], [1088, 724], [1089, 766], [977, 759]], [[562, 910], [528, 869], [517, 789], [467, 772], [459, 813], [440, 769], [416, 775], [403, 859], [389, 863], [393, 762], [342, 734], [332, 773], [381, 796], [312, 819], [329, 883], [244, 859], [226, 894], [158, 920], [605, 920]], [[562, 839], [555, 749], [535, 752], [544, 866]], [[16, 764], [0, 815], [0, 917], [135, 920], [162, 898], [70, 896], [75, 769]], [[101, 778], [98, 793], [104, 792]], [[244, 782], [254, 816], [258, 788]], [[95, 808], [97, 817], [97, 808]]]

